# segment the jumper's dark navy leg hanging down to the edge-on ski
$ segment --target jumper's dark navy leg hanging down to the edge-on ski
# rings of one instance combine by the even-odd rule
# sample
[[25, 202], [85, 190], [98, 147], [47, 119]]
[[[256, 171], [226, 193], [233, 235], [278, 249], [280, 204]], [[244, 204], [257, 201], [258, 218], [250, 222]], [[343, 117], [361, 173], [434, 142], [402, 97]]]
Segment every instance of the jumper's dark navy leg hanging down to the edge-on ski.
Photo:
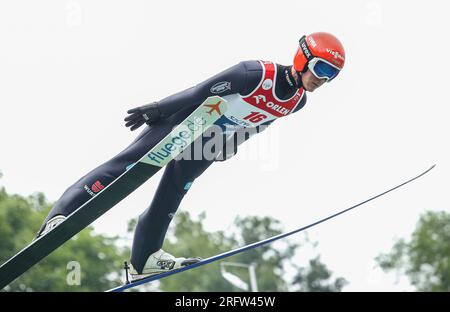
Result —
[[[202, 146], [209, 141], [201, 140]], [[131, 263], [139, 273], [148, 257], [162, 247], [169, 224], [191, 184], [214, 162], [203, 154], [198, 158], [174, 159], [168, 163], [150, 206], [139, 216], [131, 251]]]

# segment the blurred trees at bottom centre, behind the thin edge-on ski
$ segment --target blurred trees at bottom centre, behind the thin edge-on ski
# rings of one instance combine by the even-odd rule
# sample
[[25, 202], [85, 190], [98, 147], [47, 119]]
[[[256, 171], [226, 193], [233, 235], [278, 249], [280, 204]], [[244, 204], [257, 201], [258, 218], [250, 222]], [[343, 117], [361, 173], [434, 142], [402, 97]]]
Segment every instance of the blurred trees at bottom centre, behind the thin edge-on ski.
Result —
[[[254, 243], [281, 234], [279, 221], [270, 217], [249, 216], [236, 218], [235, 230], [209, 233], [203, 228], [206, 214], [193, 220], [188, 212], [178, 212], [169, 229], [163, 249], [176, 256], [200, 256], [207, 258], [231, 249]], [[130, 227], [132, 228], [132, 226]], [[305, 243], [308, 243], [305, 241]], [[222, 261], [211, 263], [171, 276], [160, 281], [162, 291], [241, 291], [226, 281], [220, 274], [221, 262], [256, 264], [259, 291], [341, 291], [345, 279], [333, 279], [332, 272], [319, 257], [309, 266], [301, 267], [292, 260], [301, 246], [289, 242], [264, 245], [237, 254]], [[312, 265], [311, 265], [312, 264]], [[247, 284], [250, 276], [247, 269], [227, 268]], [[294, 278], [289, 278], [294, 272]]]

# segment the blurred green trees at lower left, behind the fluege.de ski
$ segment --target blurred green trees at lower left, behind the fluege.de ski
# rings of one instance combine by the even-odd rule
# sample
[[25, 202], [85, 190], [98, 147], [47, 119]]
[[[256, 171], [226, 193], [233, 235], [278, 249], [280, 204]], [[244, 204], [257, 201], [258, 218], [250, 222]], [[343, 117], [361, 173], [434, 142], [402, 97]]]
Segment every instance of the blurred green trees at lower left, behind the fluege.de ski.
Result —
[[[49, 209], [50, 204], [43, 194], [25, 198], [0, 189], [0, 263], [32, 241]], [[125, 259], [125, 251], [116, 247], [116, 240], [95, 234], [93, 228], [88, 227], [5, 290], [102, 291], [111, 288], [120, 280], [117, 274], [111, 273], [117, 272]]]

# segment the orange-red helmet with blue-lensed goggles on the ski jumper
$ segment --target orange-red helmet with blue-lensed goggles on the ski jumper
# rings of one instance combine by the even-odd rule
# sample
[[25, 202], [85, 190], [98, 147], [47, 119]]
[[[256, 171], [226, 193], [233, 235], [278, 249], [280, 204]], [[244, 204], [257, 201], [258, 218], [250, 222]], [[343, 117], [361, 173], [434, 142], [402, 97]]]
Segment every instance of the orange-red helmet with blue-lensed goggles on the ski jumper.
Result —
[[342, 70], [344, 63], [344, 47], [332, 34], [316, 32], [300, 38], [294, 57], [297, 72], [310, 69], [316, 77], [330, 81]]

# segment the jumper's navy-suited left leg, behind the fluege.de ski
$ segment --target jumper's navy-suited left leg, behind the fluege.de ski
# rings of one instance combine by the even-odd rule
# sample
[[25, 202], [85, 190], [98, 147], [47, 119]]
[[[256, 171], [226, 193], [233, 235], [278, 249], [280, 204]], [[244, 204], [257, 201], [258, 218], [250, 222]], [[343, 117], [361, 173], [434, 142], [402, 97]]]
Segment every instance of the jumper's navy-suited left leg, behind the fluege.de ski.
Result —
[[[68, 216], [96, 193], [108, 186], [155, 146], [172, 128], [184, 120], [195, 108], [189, 108], [170, 118], [146, 127], [121, 153], [95, 168], [70, 186], [53, 206], [44, 224], [56, 215]], [[42, 230], [42, 229], [41, 229]]]

